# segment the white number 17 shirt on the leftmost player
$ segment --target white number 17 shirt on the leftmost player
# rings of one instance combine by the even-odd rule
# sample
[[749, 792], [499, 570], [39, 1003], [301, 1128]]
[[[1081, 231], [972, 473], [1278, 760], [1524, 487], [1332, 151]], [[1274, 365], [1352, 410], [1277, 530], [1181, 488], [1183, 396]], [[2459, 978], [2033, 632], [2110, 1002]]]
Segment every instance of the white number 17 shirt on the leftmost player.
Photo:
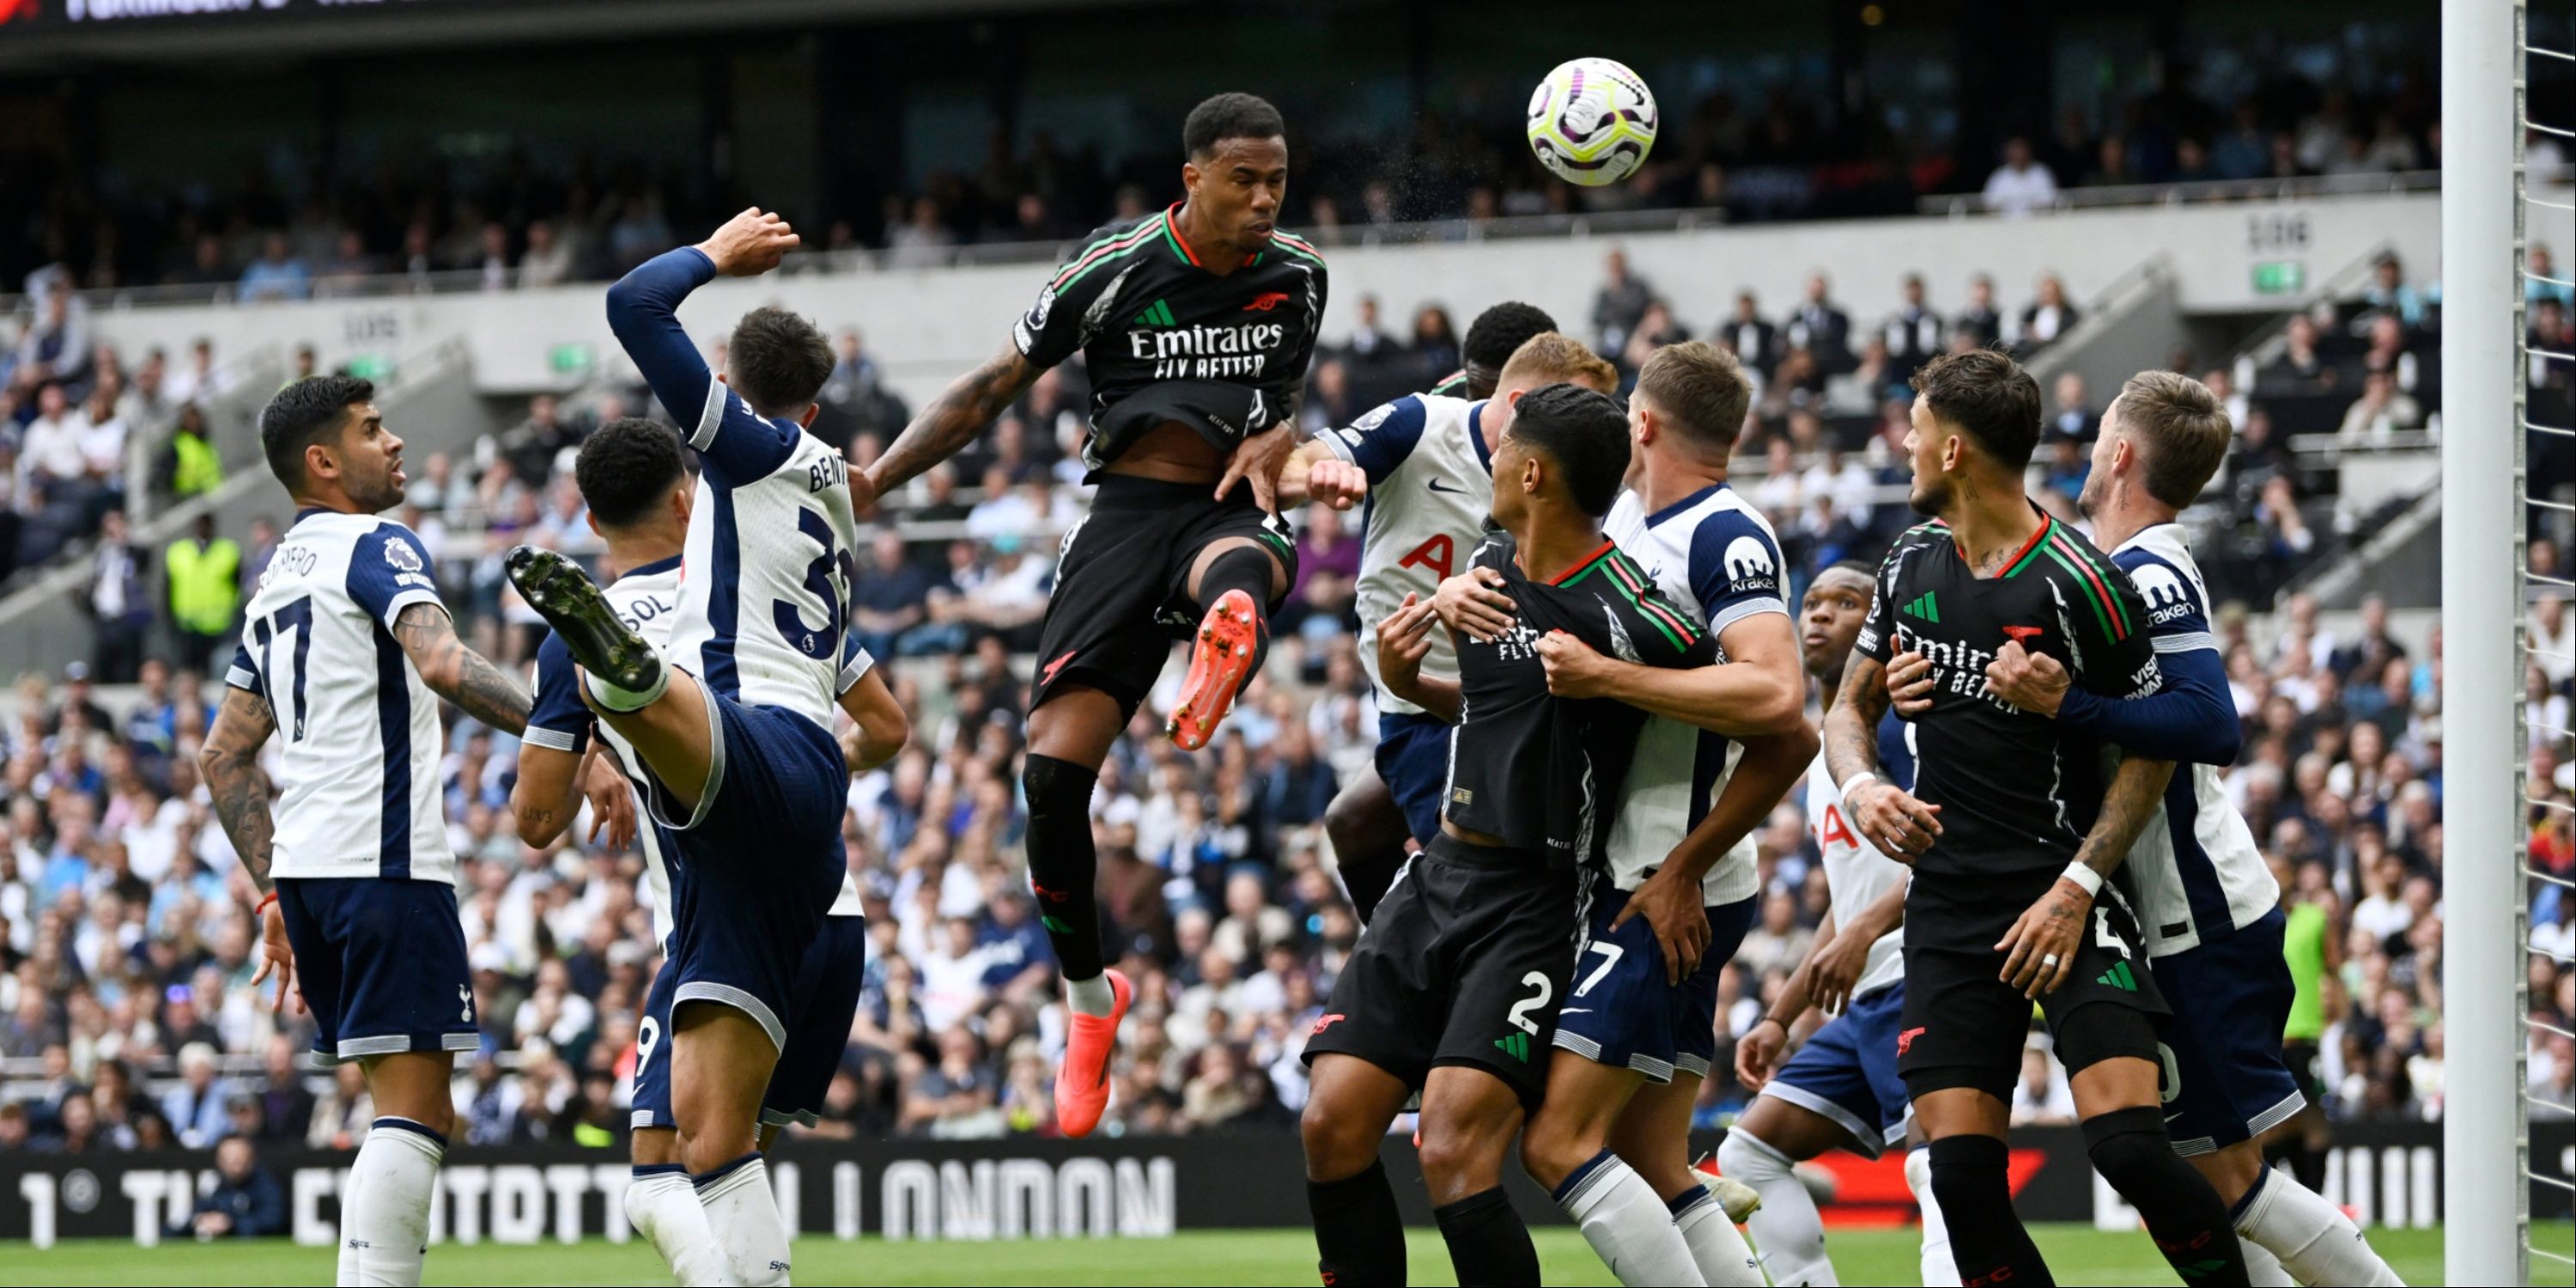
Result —
[[402, 523], [304, 510], [278, 538], [224, 672], [278, 721], [270, 876], [456, 881], [438, 696], [394, 639], [415, 603], [438, 582]]

